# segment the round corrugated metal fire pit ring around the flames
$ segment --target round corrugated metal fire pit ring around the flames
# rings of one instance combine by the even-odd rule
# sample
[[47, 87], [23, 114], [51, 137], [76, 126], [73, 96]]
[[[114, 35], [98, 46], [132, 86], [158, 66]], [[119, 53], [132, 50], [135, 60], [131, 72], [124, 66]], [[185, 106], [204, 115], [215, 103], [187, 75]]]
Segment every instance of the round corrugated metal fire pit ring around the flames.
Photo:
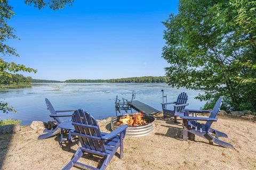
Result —
[[[135, 115], [135, 114], [131, 114], [131, 115]], [[123, 118], [123, 117], [126, 117], [126, 115], [117, 116], [117, 117], [114, 117], [113, 120], [111, 120], [111, 129], [113, 131], [120, 127], [115, 123], [119, 121], [120, 118]], [[153, 116], [143, 114], [142, 117], [147, 120], [148, 124], [141, 125], [141, 126], [129, 126], [126, 129], [126, 135], [129, 135], [131, 137], [143, 137], [151, 133], [155, 129], [155, 118]]]

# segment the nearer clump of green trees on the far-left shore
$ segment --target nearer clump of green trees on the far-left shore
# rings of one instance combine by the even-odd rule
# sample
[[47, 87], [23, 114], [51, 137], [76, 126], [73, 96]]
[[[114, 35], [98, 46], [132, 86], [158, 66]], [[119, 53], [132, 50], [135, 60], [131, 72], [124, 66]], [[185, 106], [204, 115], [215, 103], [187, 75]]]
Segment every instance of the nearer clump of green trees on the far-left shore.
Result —
[[21, 74], [0, 75], [0, 84], [30, 84], [32, 78]]

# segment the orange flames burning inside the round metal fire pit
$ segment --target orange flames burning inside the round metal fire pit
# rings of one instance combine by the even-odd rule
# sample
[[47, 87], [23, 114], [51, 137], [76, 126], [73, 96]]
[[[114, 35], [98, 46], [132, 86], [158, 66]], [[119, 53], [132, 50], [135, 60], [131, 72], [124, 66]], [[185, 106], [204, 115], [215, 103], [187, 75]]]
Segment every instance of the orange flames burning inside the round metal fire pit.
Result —
[[127, 115], [126, 117], [120, 118], [118, 122], [116, 122], [117, 125], [121, 126], [124, 124], [127, 124], [129, 126], [140, 126], [140, 125], [146, 125], [147, 122], [145, 118], [142, 118], [142, 114], [134, 114], [134, 115]]

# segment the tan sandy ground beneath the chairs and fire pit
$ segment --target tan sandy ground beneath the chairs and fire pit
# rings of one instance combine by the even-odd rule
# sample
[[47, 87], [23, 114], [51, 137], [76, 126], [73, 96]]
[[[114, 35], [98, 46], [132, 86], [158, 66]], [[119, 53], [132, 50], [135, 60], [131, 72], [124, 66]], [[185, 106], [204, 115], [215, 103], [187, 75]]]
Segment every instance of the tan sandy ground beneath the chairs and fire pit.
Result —
[[[219, 116], [212, 127], [225, 132], [223, 140], [234, 145], [227, 149], [199, 137], [195, 141], [182, 141], [181, 120], [164, 121], [156, 116], [154, 132], [141, 138], [125, 137], [124, 158], [114, 156], [107, 169], [256, 169], [256, 123], [245, 118]], [[103, 132], [109, 132], [110, 122], [100, 121]], [[42, 131], [29, 127], [17, 134], [0, 136], [1, 169], [61, 169], [77, 149], [59, 147], [60, 137], [37, 140]], [[118, 150], [119, 153], [119, 150]], [[86, 155], [80, 162], [97, 166], [101, 159]], [[73, 168], [76, 169], [76, 168]]]

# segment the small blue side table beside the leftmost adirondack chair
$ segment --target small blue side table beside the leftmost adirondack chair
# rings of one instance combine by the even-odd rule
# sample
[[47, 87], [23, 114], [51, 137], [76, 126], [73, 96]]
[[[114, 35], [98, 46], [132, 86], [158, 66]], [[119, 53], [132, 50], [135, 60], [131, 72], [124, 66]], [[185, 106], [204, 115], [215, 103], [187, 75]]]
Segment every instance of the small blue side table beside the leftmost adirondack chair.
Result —
[[[71, 124], [71, 121], [67, 121], [67, 122], [62, 122], [60, 123], [58, 126], [61, 129], [60, 132], [60, 147], [62, 148], [62, 141], [68, 141], [68, 148], [70, 150], [70, 144], [71, 144], [71, 132], [73, 132], [75, 130], [74, 126]], [[68, 139], [64, 138], [63, 139], [63, 131], [64, 130], [68, 130]]]

